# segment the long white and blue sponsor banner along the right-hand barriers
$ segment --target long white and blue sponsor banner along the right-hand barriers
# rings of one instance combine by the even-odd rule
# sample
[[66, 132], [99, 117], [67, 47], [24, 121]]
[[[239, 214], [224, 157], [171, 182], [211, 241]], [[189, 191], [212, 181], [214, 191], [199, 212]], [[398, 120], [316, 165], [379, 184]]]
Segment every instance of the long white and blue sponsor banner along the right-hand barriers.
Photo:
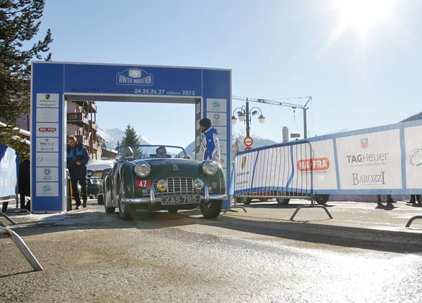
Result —
[[420, 194], [421, 174], [419, 120], [238, 153], [231, 191]]

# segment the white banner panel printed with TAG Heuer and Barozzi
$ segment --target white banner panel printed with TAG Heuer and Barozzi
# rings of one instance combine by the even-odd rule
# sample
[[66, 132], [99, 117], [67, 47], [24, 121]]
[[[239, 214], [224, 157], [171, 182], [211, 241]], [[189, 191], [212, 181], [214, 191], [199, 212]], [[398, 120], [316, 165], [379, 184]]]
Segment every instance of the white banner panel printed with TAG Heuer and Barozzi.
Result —
[[335, 141], [340, 189], [402, 188], [399, 129]]

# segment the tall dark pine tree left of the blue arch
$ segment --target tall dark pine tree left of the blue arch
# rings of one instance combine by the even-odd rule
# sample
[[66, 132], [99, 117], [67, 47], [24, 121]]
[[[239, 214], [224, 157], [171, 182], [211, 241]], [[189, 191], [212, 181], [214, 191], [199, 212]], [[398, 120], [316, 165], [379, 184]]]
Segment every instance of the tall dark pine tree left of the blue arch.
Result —
[[[29, 146], [18, 136], [16, 119], [30, 113], [30, 61], [41, 60], [49, 51], [51, 31], [32, 47], [28, 42], [39, 32], [44, 0], [0, 0], [0, 142], [18, 151], [29, 153]], [[25, 44], [25, 46], [23, 46]], [[48, 53], [44, 60], [51, 60]]]

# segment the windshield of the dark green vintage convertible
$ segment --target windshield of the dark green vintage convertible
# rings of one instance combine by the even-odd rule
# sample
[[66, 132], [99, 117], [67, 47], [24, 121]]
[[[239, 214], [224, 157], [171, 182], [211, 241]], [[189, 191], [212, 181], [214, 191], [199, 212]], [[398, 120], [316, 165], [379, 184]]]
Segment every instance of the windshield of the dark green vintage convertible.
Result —
[[186, 158], [186, 151], [180, 146], [154, 146], [136, 145], [120, 146], [117, 154], [123, 155], [124, 159], [145, 159], [145, 158]]

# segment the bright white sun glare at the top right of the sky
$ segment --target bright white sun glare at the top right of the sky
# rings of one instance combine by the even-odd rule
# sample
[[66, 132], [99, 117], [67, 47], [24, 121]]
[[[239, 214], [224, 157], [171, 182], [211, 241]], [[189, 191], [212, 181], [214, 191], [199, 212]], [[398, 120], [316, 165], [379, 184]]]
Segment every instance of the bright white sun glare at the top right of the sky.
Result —
[[342, 22], [363, 31], [388, 21], [393, 4], [394, 0], [335, 0]]

